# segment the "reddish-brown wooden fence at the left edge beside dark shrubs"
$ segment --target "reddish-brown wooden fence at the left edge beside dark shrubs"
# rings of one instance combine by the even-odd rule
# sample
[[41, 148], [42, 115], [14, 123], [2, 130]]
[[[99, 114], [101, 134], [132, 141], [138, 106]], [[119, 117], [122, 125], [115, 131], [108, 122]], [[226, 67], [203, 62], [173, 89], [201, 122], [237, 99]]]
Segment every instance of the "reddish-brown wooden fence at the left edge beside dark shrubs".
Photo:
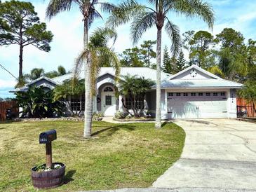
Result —
[[17, 107], [17, 102], [0, 102], [0, 121], [6, 120], [6, 109], [11, 109], [12, 116], [18, 116], [19, 108]]

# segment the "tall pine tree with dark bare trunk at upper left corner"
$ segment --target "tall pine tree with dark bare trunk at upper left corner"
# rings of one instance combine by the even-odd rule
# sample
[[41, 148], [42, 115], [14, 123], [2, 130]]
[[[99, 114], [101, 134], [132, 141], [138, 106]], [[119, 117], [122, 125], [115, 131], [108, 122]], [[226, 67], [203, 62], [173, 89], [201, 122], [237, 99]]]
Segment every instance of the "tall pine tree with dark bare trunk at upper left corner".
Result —
[[20, 79], [25, 47], [34, 46], [49, 52], [52, 40], [52, 32], [46, 30], [46, 23], [40, 22], [30, 2], [12, 0], [1, 3], [0, 0], [0, 46], [17, 44], [20, 47]]

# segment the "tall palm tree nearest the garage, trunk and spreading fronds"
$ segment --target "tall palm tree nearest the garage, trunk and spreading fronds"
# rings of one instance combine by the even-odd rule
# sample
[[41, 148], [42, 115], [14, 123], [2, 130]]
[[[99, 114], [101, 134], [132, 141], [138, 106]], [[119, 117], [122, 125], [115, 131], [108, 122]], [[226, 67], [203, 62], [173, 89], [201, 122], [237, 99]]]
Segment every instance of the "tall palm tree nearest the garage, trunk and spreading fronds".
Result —
[[[210, 28], [213, 27], [213, 9], [201, 0], [148, 0], [152, 7], [138, 4], [135, 0], [119, 4], [109, 17], [109, 25], [116, 27], [132, 20], [130, 32], [133, 43], [141, 38], [147, 29], [156, 26], [156, 128], [161, 128], [161, 37], [165, 26], [172, 44], [171, 51], [177, 55], [180, 49], [180, 32], [177, 25], [168, 18], [173, 12], [187, 18], [202, 18]], [[166, 25], [165, 25], [166, 22]]]

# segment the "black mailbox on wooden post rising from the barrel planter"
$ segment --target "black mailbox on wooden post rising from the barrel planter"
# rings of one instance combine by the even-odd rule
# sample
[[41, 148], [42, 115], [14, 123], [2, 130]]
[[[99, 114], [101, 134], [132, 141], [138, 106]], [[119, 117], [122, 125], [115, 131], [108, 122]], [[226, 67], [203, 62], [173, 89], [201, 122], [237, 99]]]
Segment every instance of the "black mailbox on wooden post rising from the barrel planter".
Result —
[[53, 168], [52, 141], [57, 139], [56, 130], [42, 132], [39, 135], [39, 144], [46, 144], [46, 167]]

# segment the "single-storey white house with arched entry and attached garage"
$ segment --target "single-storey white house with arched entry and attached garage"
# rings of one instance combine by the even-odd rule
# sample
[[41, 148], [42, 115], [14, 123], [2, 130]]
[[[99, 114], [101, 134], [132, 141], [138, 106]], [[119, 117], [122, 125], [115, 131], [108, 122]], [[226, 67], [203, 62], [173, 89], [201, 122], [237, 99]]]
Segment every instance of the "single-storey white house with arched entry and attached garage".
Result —
[[[79, 78], [84, 78], [83, 71]], [[116, 111], [123, 111], [122, 95], [116, 97], [118, 85], [114, 81], [114, 69], [102, 67], [97, 78], [97, 96], [93, 100], [93, 111], [102, 112], [105, 116], [114, 116]], [[147, 67], [122, 67], [121, 76], [143, 76], [156, 81], [156, 70]], [[72, 78], [66, 74], [56, 78], [41, 77], [18, 90], [25, 91], [29, 86], [43, 86], [53, 89], [56, 85]], [[243, 88], [240, 83], [227, 81], [201, 69], [196, 65], [187, 67], [177, 74], [161, 73], [161, 116], [170, 118], [236, 118], [236, 90]], [[15, 90], [15, 91], [18, 91]], [[129, 106], [129, 98], [123, 98]], [[84, 95], [69, 97], [72, 110], [84, 109]], [[155, 115], [156, 88], [147, 92], [145, 98], [138, 102], [146, 102], [151, 116]]]

